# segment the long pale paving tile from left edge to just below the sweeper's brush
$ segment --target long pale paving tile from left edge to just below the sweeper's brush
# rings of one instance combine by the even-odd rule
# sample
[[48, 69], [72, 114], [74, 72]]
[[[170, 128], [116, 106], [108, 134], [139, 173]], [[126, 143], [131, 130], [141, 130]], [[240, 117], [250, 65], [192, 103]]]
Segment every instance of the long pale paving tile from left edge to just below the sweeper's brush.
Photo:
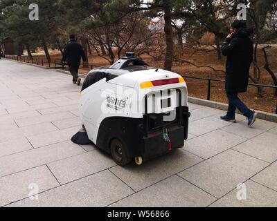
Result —
[[85, 151], [77, 144], [63, 142], [0, 157], [0, 177], [81, 153], [85, 153]]

